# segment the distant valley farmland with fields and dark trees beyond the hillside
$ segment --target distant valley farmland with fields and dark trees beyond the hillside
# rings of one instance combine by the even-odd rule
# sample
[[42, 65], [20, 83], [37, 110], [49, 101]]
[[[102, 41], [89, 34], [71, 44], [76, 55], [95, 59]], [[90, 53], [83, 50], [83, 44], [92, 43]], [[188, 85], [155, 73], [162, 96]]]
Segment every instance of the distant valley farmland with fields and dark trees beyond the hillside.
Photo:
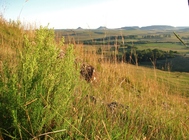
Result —
[[[101, 59], [111, 59], [112, 56], [120, 61], [131, 61], [128, 57], [139, 56], [142, 51], [161, 51], [162, 58], [156, 59], [157, 68], [162, 69], [169, 63], [171, 71], [189, 71], [189, 47], [184, 46], [173, 34], [174, 30], [124, 30], [124, 29], [75, 29], [55, 30], [57, 39], [64, 36], [67, 43], [83, 44], [87, 52], [100, 54]], [[189, 31], [176, 30], [179, 36], [189, 44]], [[163, 52], [164, 51], [164, 52]], [[103, 55], [103, 56], [102, 56]], [[146, 54], [141, 54], [146, 55]], [[135, 56], [132, 56], [132, 59]], [[153, 53], [138, 64], [151, 67]], [[124, 58], [124, 59], [122, 59]], [[140, 58], [137, 57], [138, 61]], [[133, 61], [134, 64], [136, 62]]]

